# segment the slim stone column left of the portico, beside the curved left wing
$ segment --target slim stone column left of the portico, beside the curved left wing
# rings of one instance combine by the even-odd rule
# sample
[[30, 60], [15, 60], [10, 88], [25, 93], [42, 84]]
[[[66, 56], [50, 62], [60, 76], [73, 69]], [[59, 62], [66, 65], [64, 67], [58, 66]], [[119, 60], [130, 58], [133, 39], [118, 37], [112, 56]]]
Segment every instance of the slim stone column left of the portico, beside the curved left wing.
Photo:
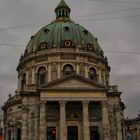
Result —
[[28, 139], [28, 107], [27, 107], [27, 97], [22, 99], [22, 136], [21, 140]]

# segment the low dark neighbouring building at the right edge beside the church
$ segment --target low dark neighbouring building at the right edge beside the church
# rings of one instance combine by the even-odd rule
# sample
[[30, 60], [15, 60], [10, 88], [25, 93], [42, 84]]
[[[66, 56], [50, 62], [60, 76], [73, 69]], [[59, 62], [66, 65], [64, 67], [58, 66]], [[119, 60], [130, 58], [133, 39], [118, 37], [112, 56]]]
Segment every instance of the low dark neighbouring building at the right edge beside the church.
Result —
[[134, 119], [125, 119], [127, 140], [140, 140], [140, 114]]

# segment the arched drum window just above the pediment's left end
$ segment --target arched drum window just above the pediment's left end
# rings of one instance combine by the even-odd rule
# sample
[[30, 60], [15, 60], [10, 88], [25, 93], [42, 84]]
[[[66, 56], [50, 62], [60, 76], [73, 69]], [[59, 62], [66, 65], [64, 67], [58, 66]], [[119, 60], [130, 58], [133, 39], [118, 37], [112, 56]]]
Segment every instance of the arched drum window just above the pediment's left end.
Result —
[[46, 83], [46, 69], [40, 67], [37, 72], [37, 85], [42, 86]]

